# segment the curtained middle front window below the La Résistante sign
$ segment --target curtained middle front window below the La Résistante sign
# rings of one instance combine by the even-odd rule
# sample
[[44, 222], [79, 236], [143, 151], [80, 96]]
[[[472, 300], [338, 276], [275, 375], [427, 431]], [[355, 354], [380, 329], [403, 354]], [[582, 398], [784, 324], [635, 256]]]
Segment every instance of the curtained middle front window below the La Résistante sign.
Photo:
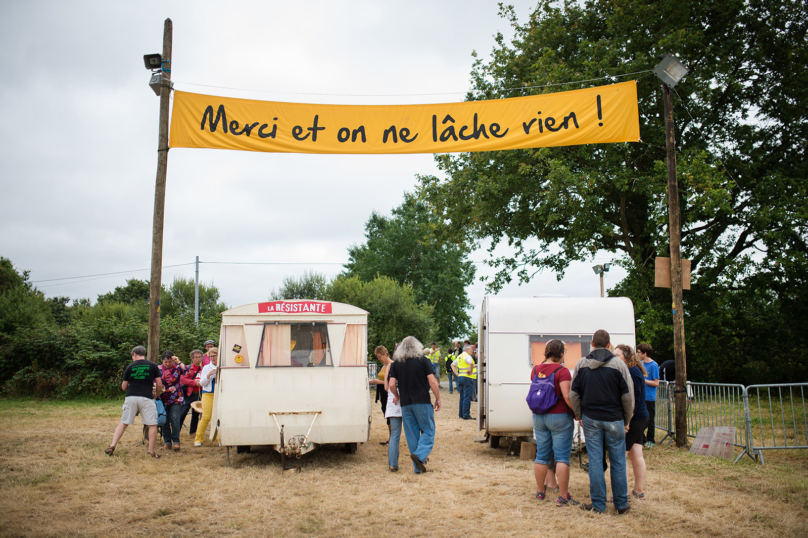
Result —
[[256, 366], [333, 366], [326, 324], [265, 324]]

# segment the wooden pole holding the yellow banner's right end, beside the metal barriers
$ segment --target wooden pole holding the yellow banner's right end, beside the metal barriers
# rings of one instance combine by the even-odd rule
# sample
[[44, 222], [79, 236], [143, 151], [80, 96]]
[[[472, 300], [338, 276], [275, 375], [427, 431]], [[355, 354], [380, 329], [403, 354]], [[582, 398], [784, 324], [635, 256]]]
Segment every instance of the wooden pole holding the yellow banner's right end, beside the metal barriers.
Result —
[[682, 255], [680, 252], [679, 183], [676, 179], [676, 142], [673, 132], [673, 97], [667, 84], [662, 84], [665, 103], [665, 148], [668, 151], [668, 230], [671, 242], [671, 292], [673, 295], [673, 353], [676, 363], [676, 445], [687, 446], [687, 360], [685, 355], [685, 313], [682, 305]]

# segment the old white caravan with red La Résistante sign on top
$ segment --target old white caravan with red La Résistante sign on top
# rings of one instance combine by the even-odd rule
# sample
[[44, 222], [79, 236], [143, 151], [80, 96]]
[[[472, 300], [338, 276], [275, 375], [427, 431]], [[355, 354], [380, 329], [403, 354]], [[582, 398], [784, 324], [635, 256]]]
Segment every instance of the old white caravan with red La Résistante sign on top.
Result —
[[370, 434], [367, 315], [327, 301], [253, 303], [222, 313], [211, 439], [285, 457], [323, 444], [356, 452]]

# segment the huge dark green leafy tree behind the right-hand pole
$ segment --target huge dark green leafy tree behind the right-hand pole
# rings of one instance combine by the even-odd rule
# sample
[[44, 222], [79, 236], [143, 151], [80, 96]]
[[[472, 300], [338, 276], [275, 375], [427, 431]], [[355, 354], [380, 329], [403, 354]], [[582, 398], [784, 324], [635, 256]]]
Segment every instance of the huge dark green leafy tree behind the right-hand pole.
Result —
[[[682, 251], [694, 269], [689, 377], [804, 378], [793, 335], [808, 323], [806, 4], [543, 0], [523, 24], [512, 8], [502, 15], [515, 37], [498, 35], [490, 61], [475, 61], [469, 100], [640, 72], [643, 142], [437, 156], [448, 180], [422, 177], [419, 195], [446, 223], [441, 237], [513, 247], [492, 260], [493, 290], [617, 253], [628, 277], [611, 293], [633, 299], [640, 340], [670, 357], [670, 291], [653, 287], [654, 258], [668, 252], [664, 125], [660, 83], [646, 71], [672, 53], [691, 68], [675, 94]], [[765, 359], [748, 353], [755, 348]]]

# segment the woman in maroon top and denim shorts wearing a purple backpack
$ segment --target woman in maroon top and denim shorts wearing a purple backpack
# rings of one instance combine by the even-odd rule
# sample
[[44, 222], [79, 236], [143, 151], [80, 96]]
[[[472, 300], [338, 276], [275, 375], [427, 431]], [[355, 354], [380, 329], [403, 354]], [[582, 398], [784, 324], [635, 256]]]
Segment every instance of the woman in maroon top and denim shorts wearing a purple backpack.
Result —
[[570, 404], [572, 374], [564, 366], [567, 350], [561, 340], [550, 340], [544, 348], [544, 362], [533, 367], [528, 405], [533, 411], [533, 435], [536, 437], [536, 499], [547, 496], [544, 485], [550, 464], [555, 460], [558, 480], [556, 506], [579, 504], [569, 493], [570, 453], [575, 421]]

